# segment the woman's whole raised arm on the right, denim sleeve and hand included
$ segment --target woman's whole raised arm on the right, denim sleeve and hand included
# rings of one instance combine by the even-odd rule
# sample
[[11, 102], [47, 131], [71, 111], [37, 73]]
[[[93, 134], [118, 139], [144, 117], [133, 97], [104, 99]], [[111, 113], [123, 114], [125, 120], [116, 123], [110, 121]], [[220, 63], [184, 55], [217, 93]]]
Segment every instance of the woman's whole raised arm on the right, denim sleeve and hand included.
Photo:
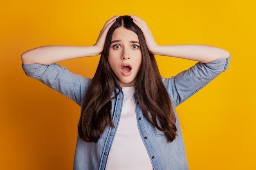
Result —
[[158, 46], [146, 23], [134, 15], [130, 16], [143, 32], [148, 50], [152, 54], [199, 61], [176, 76], [163, 78], [175, 106], [180, 105], [229, 67], [229, 52], [217, 47], [196, 44]]

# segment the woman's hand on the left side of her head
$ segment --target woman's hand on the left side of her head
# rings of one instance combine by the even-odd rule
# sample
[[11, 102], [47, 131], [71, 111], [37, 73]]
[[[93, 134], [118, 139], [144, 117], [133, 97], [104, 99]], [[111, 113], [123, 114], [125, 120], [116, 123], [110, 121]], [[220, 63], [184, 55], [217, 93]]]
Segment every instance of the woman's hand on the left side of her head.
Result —
[[99, 33], [99, 37], [97, 38], [97, 41], [94, 44], [94, 46], [98, 49], [97, 51], [99, 52], [99, 54], [101, 54], [101, 52], [103, 51], [109, 28], [114, 24], [114, 22], [119, 16], [120, 15], [115, 15], [114, 17], [110, 18], [103, 26], [101, 32]]

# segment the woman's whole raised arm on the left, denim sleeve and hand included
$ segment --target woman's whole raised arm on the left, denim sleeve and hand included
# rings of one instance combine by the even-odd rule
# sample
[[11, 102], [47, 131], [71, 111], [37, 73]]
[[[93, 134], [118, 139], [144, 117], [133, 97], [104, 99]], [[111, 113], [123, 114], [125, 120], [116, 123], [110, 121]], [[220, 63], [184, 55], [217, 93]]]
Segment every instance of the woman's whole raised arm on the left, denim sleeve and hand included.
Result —
[[118, 15], [106, 22], [94, 46], [43, 46], [23, 53], [23, 70], [27, 76], [41, 81], [81, 105], [91, 79], [73, 74], [67, 68], [54, 63], [100, 54], [103, 50], [108, 30], [117, 17]]

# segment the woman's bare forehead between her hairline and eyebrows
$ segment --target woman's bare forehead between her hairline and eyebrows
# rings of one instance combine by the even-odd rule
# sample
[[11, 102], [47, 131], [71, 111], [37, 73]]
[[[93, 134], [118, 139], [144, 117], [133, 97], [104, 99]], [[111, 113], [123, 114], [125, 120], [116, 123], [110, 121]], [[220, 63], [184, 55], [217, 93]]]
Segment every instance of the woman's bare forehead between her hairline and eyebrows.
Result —
[[124, 28], [119, 27], [115, 29], [113, 35], [112, 35], [112, 41], [113, 40], [128, 40], [128, 41], [139, 41], [138, 35], [134, 32]]

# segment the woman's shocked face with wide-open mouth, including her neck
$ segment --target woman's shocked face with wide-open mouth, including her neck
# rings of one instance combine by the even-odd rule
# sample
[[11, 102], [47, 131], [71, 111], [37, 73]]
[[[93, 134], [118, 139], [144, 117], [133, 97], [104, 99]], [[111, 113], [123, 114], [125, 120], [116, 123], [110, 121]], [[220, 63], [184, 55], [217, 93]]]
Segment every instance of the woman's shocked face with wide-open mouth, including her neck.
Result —
[[121, 87], [135, 86], [141, 61], [142, 54], [137, 34], [124, 27], [115, 29], [108, 62]]

